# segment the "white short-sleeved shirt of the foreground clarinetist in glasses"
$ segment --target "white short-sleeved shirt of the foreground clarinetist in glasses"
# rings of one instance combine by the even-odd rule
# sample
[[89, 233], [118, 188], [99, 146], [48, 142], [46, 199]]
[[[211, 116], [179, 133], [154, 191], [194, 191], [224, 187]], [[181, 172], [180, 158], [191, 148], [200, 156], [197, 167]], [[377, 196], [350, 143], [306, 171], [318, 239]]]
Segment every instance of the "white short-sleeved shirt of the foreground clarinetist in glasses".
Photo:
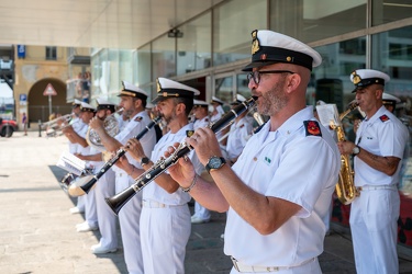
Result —
[[[298, 112], [276, 132], [270, 123], [250, 137], [233, 165], [254, 191], [298, 204], [302, 209], [275, 232], [263, 236], [230, 207], [224, 252], [246, 265], [298, 265], [323, 252], [322, 221], [337, 182], [341, 155], [320, 123], [322, 137], [307, 136], [303, 121], [312, 106]], [[265, 213], [261, 213], [265, 214]]]

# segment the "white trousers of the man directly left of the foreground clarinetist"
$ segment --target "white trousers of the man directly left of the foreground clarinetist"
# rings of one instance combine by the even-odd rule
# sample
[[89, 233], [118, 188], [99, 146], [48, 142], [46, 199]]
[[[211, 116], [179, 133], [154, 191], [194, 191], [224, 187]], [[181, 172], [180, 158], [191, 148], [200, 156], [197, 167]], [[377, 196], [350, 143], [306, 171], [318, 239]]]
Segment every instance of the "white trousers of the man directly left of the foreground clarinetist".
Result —
[[190, 230], [187, 205], [143, 207], [141, 237], [145, 274], [185, 273], [186, 244]]

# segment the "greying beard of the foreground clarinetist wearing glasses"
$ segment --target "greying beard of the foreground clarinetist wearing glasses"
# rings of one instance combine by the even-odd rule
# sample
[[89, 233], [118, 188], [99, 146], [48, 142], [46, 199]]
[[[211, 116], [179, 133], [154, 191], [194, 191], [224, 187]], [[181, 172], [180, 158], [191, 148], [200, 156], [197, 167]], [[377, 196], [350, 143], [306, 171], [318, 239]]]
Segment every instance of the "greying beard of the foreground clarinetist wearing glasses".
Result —
[[283, 91], [285, 79], [278, 81], [270, 90], [258, 94], [259, 103], [257, 110], [261, 115], [272, 116], [280, 112], [289, 102], [289, 99]]

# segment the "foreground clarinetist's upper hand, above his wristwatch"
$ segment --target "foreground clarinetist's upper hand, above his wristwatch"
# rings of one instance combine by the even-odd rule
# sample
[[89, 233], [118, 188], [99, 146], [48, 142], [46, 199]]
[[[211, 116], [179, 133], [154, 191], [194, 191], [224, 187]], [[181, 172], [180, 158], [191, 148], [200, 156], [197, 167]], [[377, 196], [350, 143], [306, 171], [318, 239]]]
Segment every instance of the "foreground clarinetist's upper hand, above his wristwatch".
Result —
[[216, 135], [208, 127], [198, 128], [190, 138], [186, 138], [186, 142], [194, 148], [203, 165], [207, 164], [212, 156], [222, 156]]

